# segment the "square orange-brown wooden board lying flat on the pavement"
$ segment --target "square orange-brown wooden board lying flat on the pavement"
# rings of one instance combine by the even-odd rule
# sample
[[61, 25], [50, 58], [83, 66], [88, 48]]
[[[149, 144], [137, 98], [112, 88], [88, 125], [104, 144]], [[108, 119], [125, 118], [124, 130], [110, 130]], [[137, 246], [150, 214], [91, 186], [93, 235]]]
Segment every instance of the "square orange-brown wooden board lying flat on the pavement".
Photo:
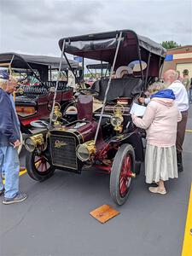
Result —
[[106, 223], [110, 218], [117, 216], [120, 212], [116, 211], [108, 205], [103, 205], [90, 212], [90, 215], [100, 221]]

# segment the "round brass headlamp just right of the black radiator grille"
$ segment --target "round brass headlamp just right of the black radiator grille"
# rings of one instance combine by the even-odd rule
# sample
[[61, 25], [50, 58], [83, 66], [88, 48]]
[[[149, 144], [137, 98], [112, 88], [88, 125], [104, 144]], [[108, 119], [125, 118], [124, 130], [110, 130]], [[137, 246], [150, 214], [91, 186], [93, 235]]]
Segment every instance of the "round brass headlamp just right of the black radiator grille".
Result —
[[82, 160], [82, 161], [91, 160], [91, 157], [93, 157], [96, 154], [95, 141], [92, 140], [92, 141], [78, 145], [76, 152], [79, 160]]

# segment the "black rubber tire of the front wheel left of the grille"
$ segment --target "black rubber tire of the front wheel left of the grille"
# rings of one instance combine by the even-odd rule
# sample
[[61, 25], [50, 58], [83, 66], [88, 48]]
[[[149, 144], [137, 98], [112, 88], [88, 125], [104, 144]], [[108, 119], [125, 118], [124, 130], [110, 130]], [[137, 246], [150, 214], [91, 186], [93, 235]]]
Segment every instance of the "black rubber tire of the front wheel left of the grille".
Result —
[[49, 163], [49, 168], [45, 172], [39, 172], [37, 167], [35, 166], [35, 151], [32, 153], [26, 151], [26, 171], [30, 177], [37, 181], [44, 181], [51, 177], [54, 172], [55, 168]]

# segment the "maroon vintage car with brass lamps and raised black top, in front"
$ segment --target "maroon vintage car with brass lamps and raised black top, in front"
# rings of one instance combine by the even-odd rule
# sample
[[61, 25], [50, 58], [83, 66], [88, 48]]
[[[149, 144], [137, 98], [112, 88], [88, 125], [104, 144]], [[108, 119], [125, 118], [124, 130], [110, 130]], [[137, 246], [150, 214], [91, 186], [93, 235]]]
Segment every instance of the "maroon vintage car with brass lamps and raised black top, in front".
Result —
[[[49, 129], [25, 141], [27, 172], [42, 181], [55, 169], [81, 173], [84, 166], [96, 166], [110, 174], [110, 194], [122, 205], [144, 160], [144, 133], [132, 124], [131, 104], [159, 77], [166, 50], [130, 30], [62, 38], [59, 45], [65, 56], [108, 62], [110, 76], [79, 90], [77, 111], [62, 115], [54, 102]], [[112, 79], [130, 63], [137, 63], [132, 73]]]

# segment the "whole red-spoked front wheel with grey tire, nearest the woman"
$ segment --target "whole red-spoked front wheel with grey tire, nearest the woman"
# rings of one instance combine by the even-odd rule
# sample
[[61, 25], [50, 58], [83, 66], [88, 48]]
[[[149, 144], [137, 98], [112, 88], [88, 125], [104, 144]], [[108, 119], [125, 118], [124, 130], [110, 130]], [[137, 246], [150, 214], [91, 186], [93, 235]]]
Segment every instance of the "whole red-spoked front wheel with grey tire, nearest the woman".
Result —
[[110, 194], [118, 205], [123, 205], [127, 200], [133, 172], [135, 172], [134, 149], [130, 144], [123, 144], [114, 157], [110, 176]]

